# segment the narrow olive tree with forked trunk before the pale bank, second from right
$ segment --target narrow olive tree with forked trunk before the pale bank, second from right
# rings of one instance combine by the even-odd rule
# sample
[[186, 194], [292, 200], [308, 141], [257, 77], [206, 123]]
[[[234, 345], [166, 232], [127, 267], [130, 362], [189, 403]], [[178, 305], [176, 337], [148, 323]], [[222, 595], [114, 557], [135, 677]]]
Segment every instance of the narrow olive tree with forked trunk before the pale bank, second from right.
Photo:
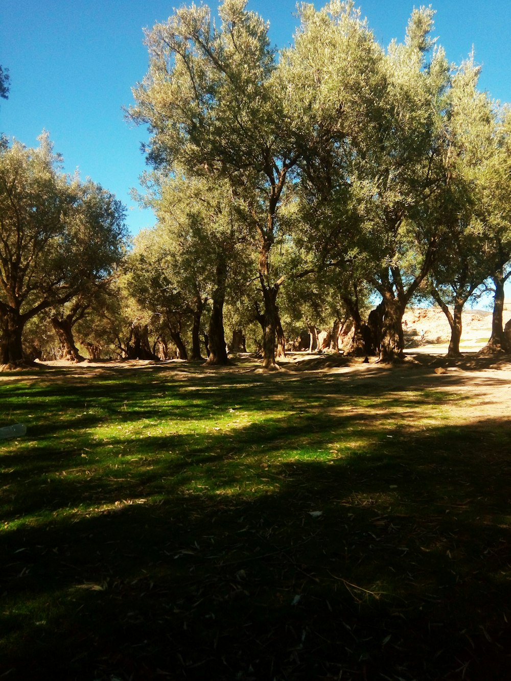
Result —
[[473, 57], [456, 70], [445, 116], [446, 169], [458, 209], [450, 212], [427, 289], [450, 325], [449, 357], [460, 354], [463, 307], [491, 272], [481, 215], [487, 166], [495, 153], [495, 111], [477, 89], [479, 74]]

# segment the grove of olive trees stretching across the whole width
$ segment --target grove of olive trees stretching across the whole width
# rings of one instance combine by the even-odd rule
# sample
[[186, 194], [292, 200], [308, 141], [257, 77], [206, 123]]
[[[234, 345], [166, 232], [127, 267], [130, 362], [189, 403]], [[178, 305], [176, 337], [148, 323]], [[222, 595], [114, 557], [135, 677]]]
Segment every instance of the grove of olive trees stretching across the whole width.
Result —
[[318, 327], [334, 350], [351, 328], [347, 351], [392, 362], [416, 301], [442, 308], [456, 355], [482, 291], [495, 300], [484, 351], [511, 351], [509, 106], [480, 91], [473, 55], [447, 61], [431, 8], [386, 49], [351, 1], [299, 13], [281, 51], [245, 0], [146, 31], [127, 118], [149, 130], [138, 198], [157, 223], [129, 248], [122, 206], [61, 174], [47, 136], [3, 141], [0, 364], [34, 338], [74, 360], [77, 339], [89, 356], [226, 364], [227, 341], [273, 369]]

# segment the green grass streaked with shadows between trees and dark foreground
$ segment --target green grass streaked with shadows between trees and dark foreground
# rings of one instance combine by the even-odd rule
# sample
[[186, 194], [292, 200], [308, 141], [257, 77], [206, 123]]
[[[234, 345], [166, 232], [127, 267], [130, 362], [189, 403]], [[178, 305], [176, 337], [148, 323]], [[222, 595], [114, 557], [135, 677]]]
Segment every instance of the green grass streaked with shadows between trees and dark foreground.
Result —
[[[105, 406], [101, 386], [96, 392], [92, 387], [80, 389], [79, 398], [66, 396], [65, 410], [58, 417], [54, 415], [49, 423], [39, 417], [39, 422], [29, 429], [27, 443], [20, 441], [16, 449], [2, 455], [12, 496], [4, 499], [5, 520], [29, 513], [65, 511], [84, 503], [112, 504], [132, 496], [181, 494], [193, 484], [204, 490], [230, 493], [232, 488], [239, 489], [242, 482], [255, 488], [260, 477], [266, 476], [266, 488], [270, 488], [279, 484], [275, 461], [293, 458], [294, 454], [307, 456], [307, 452], [308, 456], [315, 456], [318, 451], [332, 447], [345, 450], [346, 439], [356, 441], [361, 451], [382, 439], [387, 442], [388, 437], [399, 437], [407, 422], [400, 424], [388, 419], [388, 426], [383, 427], [383, 407], [389, 413], [399, 409], [401, 415], [413, 418], [414, 409], [435, 407], [439, 399], [434, 392], [421, 392], [417, 386], [407, 394], [402, 387], [384, 391], [372, 383], [352, 385], [333, 379], [307, 385], [268, 381], [262, 386], [253, 383], [249, 386], [247, 390], [245, 383], [236, 383], [241, 392], [233, 400], [233, 385], [217, 385], [215, 379], [193, 392], [193, 402], [197, 404], [189, 401], [188, 384], [174, 386], [173, 398], [179, 402], [179, 413], [172, 414], [171, 434], [154, 435], [148, 427], [129, 437], [123, 430], [115, 430], [106, 439], [95, 435], [97, 428], [104, 422], [117, 424], [119, 415], [123, 426], [142, 419], [150, 419], [154, 425], [166, 417], [168, 409], [159, 409], [154, 398], [155, 385], [125, 381], [114, 396], [105, 398]], [[257, 396], [255, 390], [260, 390]], [[94, 400], [95, 394], [101, 397]], [[130, 411], [121, 409], [130, 394], [136, 395], [136, 406], [130, 407]], [[44, 402], [38, 405], [38, 399], [51, 403], [56, 397], [59, 388], [55, 386], [52, 390], [46, 387], [35, 391], [33, 411], [37, 413], [44, 405]], [[83, 403], [95, 405], [95, 411], [81, 413]], [[255, 422], [240, 426], [235, 421], [210, 428], [201, 437], [181, 432], [180, 424], [211, 421], [217, 413], [221, 416], [234, 412], [236, 419], [236, 410], [229, 406], [233, 404], [251, 419], [256, 416]], [[152, 428], [153, 432], [155, 429]], [[40, 444], [39, 439], [46, 444]], [[347, 452], [351, 452], [351, 446], [348, 445]]]

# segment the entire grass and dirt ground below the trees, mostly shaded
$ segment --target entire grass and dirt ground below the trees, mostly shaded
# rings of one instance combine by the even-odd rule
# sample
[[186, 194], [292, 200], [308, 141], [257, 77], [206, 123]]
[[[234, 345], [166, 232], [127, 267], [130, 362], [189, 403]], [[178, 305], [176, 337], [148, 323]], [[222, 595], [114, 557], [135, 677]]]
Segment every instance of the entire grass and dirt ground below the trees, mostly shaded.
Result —
[[509, 359], [0, 375], [0, 678], [508, 679]]

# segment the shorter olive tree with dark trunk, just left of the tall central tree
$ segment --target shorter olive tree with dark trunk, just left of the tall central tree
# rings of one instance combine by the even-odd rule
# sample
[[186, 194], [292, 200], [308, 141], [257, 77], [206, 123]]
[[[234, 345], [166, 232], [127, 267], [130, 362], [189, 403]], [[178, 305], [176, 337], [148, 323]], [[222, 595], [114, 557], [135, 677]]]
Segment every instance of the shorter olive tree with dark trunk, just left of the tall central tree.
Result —
[[230, 282], [247, 272], [253, 234], [225, 179], [180, 174], [162, 180], [155, 194], [161, 262], [193, 317], [191, 358], [200, 359], [201, 317], [209, 302], [207, 362], [226, 364], [223, 305]]

